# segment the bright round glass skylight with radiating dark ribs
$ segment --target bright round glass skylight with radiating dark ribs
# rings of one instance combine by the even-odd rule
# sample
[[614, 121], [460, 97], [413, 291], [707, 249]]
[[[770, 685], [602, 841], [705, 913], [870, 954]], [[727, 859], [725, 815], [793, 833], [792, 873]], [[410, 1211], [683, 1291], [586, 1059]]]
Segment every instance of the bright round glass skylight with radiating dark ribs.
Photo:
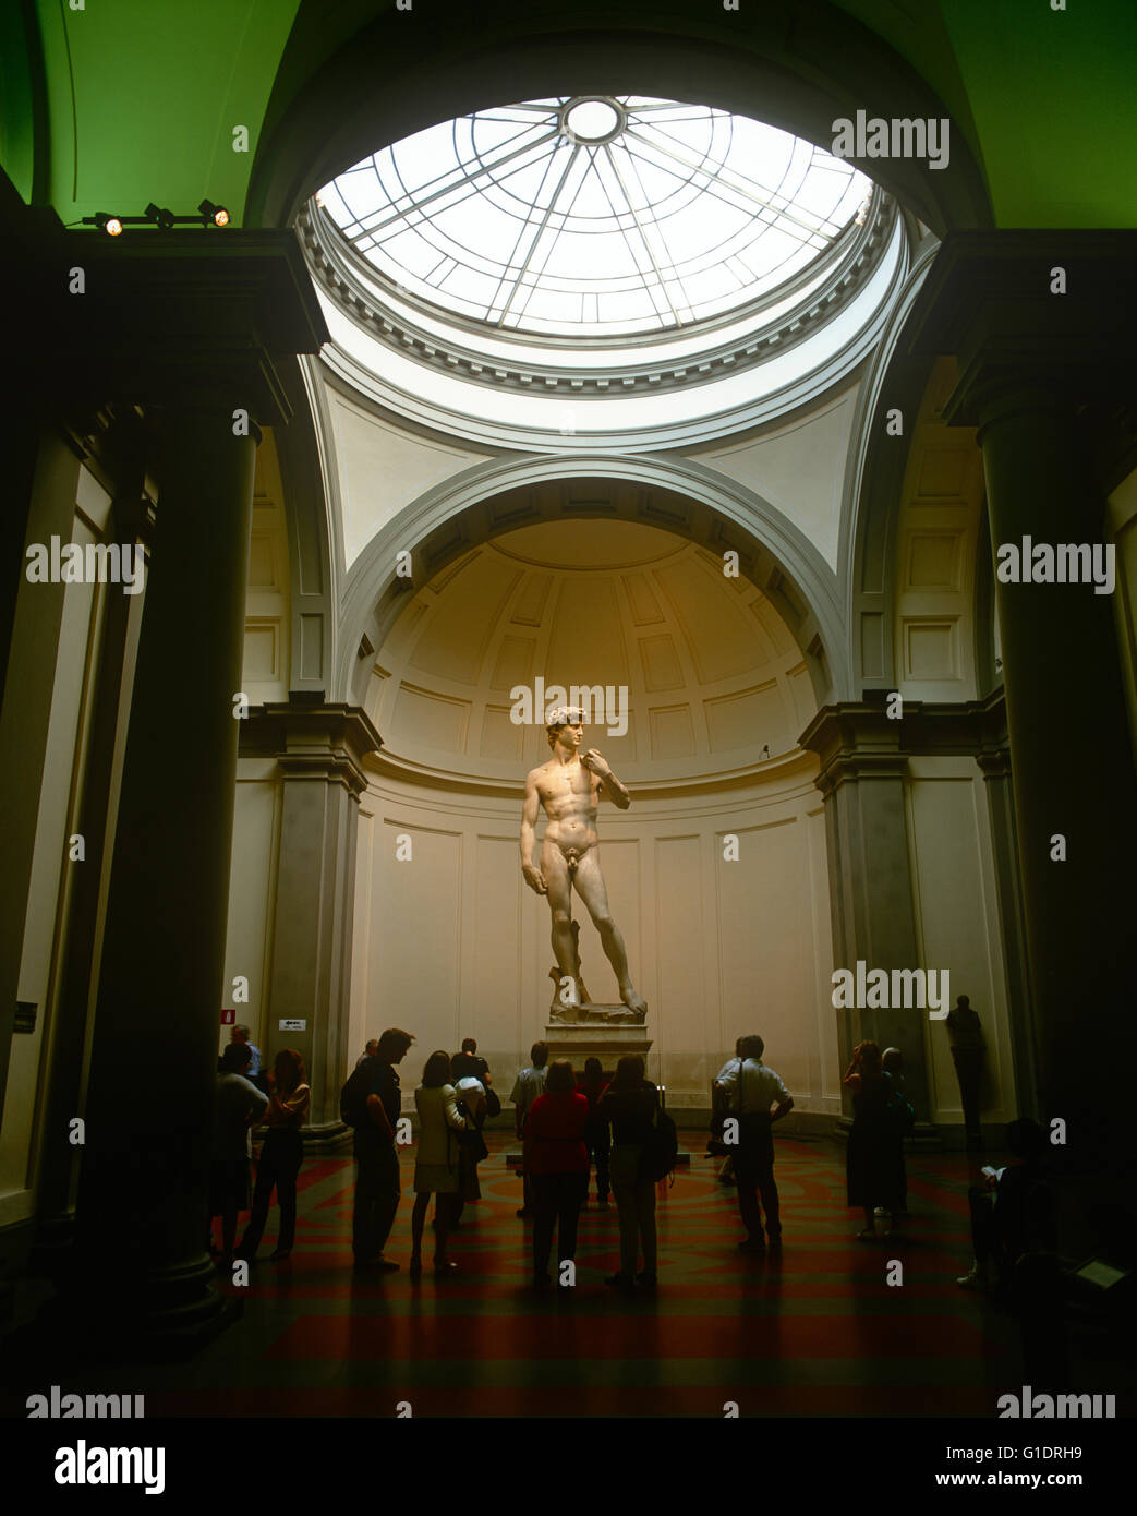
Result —
[[761, 121], [588, 96], [417, 132], [320, 200], [418, 299], [499, 330], [599, 338], [688, 327], [769, 294], [870, 190]]

